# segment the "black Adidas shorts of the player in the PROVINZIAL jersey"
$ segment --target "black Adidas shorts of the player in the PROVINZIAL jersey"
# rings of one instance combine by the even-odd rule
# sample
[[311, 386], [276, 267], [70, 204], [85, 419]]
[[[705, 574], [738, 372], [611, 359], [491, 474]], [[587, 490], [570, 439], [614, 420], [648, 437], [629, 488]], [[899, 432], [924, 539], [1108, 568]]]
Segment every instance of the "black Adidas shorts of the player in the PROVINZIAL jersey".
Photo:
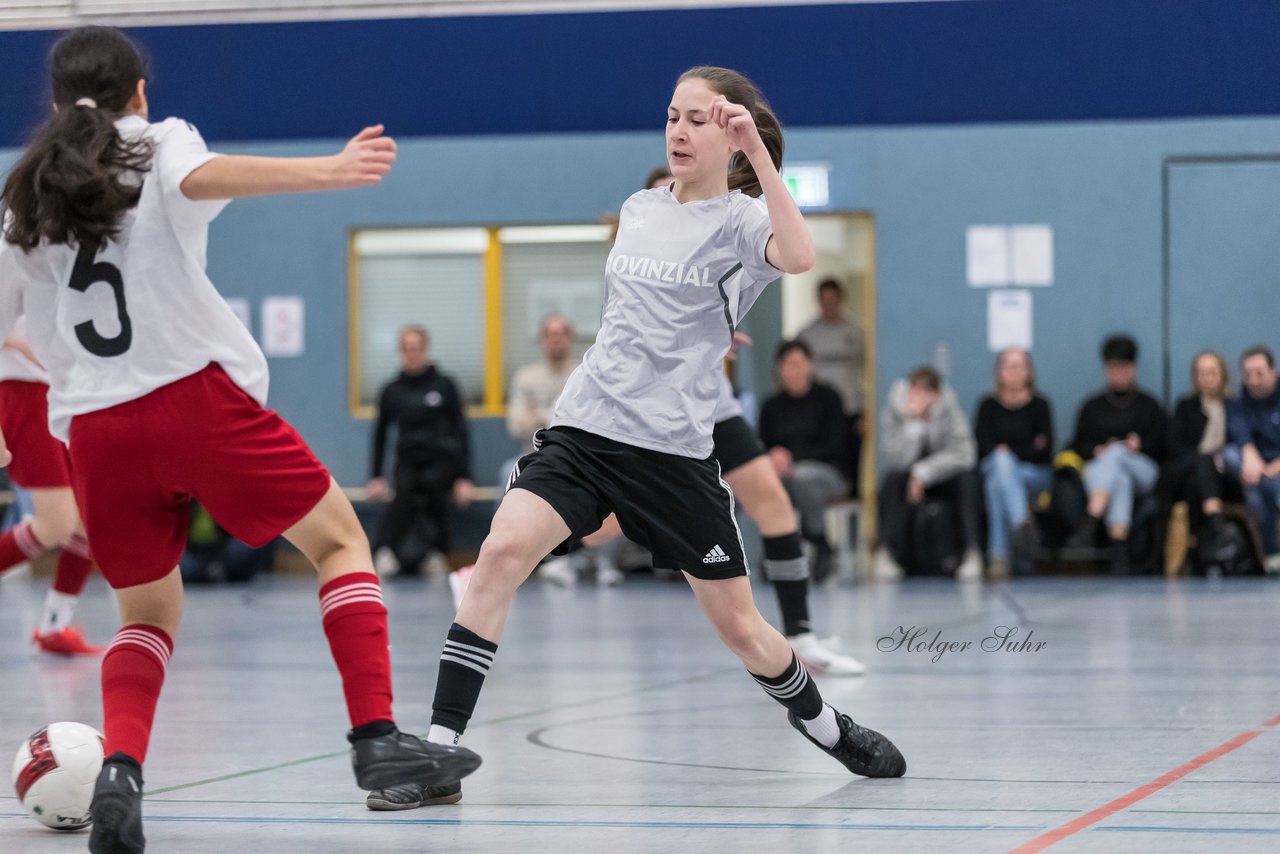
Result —
[[653, 553], [655, 568], [698, 579], [748, 575], [733, 493], [714, 457], [649, 451], [567, 426], [539, 430], [534, 444], [511, 488], [534, 493], [568, 525], [557, 554], [613, 512], [622, 533]]

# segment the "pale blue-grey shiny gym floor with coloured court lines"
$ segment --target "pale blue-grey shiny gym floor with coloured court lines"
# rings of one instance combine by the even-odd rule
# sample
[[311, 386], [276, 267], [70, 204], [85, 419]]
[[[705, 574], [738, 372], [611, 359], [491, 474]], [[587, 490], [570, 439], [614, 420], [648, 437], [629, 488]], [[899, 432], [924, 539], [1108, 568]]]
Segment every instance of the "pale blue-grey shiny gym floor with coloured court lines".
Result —
[[[97, 659], [29, 644], [46, 584], [0, 584], [5, 750], [51, 721], [101, 726]], [[772, 593], [756, 595], [773, 618]], [[869, 668], [819, 677], [824, 697], [897, 743], [905, 778], [851, 777], [794, 732], [684, 584], [531, 583], [467, 732], [485, 764], [463, 803], [371, 813], [314, 585], [191, 589], [146, 766], [148, 850], [1280, 848], [1280, 584], [910, 581], [813, 599], [820, 634], [840, 634]], [[425, 731], [448, 590], [406, 579], [387, 600], [397, 717]], [[100, 580], [79, 617], [109, 640]], [[1001, 639], [1001, 626], [1018, 631]], [[955, 645], [938, 656], [941, 644]], [[86, 845], [87, 834], [38, 826], [12, 791], [0, 802], [0, 850]]]

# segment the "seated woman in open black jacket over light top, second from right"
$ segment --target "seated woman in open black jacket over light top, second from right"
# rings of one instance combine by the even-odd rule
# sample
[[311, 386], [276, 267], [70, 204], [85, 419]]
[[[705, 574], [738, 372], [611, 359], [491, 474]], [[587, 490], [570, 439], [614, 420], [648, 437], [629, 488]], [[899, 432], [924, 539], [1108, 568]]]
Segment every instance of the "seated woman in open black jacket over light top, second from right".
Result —
[[[1178, 401], [1162, 472], [1165, 504], [1185, 501], [1201, 556], [1216, 562], [1222, 543], [1222, 448], [1226, 446], [1226, 360], [1212, 350], [1192, 360], [1192, 393]], [[1166, 507], [1166, 508], [1167, 508]]]

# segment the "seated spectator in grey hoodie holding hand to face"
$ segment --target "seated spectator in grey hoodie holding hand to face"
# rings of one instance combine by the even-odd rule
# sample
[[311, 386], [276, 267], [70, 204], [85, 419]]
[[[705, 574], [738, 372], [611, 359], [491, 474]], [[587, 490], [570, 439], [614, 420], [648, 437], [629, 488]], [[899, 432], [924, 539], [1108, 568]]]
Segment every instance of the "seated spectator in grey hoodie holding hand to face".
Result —
[[881, 416], [881, 444], [888, 471], [879, 489], [882, 534], [876, 552], [877, 577], [901, 577], [905, 549], [913, 540], [910, 519], [928, 497], [946, 499], [960, 512], [964, 560], [956, 579], [980, 580], [973, 433], [955, 392], [942, 388], [938, 371], [916, 367], [906, 380], [893, 383]]

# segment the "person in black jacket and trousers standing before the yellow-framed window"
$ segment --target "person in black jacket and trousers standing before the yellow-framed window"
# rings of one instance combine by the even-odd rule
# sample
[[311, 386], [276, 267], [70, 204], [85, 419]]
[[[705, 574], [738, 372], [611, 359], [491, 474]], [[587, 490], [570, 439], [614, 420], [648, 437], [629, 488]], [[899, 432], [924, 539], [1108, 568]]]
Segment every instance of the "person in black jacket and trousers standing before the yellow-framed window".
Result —
[[401, 374], [388, 383], [378, 401], [374, 425], [374, 465], [369, 498], [385, 498], [389, 489], [383, 465], [387, 433], [396, 428], [396, 494], [383, 516], [375, 563], [380, 572], [412, 574], [402, 551], [406, 535], [419, 516], [430, 522], [428, 549], [449, 552], [449, 499], [460, 507], [471, 503], [471, 451], [462, 398], [453, 380], [430, 360], [430, 339], [422, 326], [399, 332]]

